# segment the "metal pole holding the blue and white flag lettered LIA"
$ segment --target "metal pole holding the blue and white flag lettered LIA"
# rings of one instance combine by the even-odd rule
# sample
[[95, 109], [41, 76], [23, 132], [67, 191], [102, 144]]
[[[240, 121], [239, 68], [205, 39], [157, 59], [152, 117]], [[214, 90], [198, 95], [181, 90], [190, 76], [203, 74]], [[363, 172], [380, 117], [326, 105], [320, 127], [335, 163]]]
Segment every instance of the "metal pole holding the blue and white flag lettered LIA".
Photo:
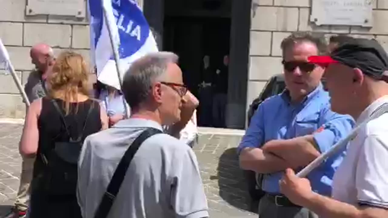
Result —
[[[110, 1], [111, 0], [109, 0], [109, 2]], [[118, 46], [118, 42], [115, 42], [115, 40], [113, 38], [112, 21], [111, 21], [111, 19], [109, 19], [108, 15], [107, 15], [107, 10], [104, 7], [104, 0], [101, 0], [101, 3], [102, 3], [102, 10], [104, 11], [104, 18], [105, 18], [106, 26], [107, 26], [108, 33], [109, 33], [109, 39], [111, 40], [114, 62], [116, 63], [117, 77], [118, 77], [118, 80], [120, 83], [121, 91], [123, 91], [123, 81], [121, 80], [121, 75], [123, 75], [123, 73], [121, 72], [121, 68], [120, 68], [119, 46]], [[125, 110], [125, 117], [129, 118], [128, 108], [127, 108], [127, 105], [126, 105], [124, 98], [123, 98], [123, 105], [124, 105], [124, 110]]]

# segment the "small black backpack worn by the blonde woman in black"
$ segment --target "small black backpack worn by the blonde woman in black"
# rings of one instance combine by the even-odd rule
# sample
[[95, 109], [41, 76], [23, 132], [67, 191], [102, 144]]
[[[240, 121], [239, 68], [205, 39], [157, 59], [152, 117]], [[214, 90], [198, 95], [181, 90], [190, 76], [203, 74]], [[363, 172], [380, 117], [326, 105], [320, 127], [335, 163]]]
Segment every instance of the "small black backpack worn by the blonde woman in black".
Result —
[[61, 109], [55, 100], [51, 100], [55, 109], [61, 115], [61, 121], [69, 135], [69, 140], [54, 142], [49, 150], [40, 152], [40, 157], [45, 165], [40, 175], [40, 187], [52, 196], [75, 195], [78, 180], [78, 158], [83, 145], [83, 132], [87, 124], [88, 116], [92, 112], [93, 105], [90, 105], [83, 130], [78, 138], [72, 138], [66, 125]]

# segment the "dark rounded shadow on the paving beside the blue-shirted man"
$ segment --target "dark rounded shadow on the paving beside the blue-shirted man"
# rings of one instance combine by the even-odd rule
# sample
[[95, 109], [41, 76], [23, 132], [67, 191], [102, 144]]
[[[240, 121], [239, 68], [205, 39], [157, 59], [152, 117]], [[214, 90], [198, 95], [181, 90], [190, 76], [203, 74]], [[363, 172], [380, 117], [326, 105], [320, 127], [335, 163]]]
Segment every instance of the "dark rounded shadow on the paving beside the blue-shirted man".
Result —
[[251, 212], [246, 171], [239, 168], [236, 148], [225, 150], [218, 161], [218, 186], [220, 197], [232, 206]]

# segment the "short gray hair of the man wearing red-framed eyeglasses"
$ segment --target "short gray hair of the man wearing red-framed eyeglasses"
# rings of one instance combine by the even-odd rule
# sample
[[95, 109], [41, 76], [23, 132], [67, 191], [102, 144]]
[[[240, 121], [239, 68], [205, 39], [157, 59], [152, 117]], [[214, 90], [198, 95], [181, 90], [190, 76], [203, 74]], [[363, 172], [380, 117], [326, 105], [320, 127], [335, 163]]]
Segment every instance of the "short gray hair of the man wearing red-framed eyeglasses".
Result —
[[147, 99], [152, 83], [165, 76], [167, 64], [177, 63], [178, 55], [172, 52], [155, 52], [134, 61], [123, 79], [123, 94], [131, 108]]

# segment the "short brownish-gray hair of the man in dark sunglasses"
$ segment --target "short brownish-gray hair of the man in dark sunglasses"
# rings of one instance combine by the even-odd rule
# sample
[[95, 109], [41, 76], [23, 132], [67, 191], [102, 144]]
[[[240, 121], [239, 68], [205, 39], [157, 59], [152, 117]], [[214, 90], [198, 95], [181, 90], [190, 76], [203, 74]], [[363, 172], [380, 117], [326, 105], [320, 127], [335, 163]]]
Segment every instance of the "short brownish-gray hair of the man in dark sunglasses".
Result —
[[294, 32], [291, 35], [289, 35], [287, 38], [284, 38], [280, 47], [283, 51], [289, 48], [291, 45], [294, 45], [295, 43], [300, 42], [310, 42], [315, 44], [315, 46], [318, 48], [319, 55], [327, 54], [327, 42], [324, 38], [323, 34], [320, 33], [313, 33], [311, 31], [298, 31]]

